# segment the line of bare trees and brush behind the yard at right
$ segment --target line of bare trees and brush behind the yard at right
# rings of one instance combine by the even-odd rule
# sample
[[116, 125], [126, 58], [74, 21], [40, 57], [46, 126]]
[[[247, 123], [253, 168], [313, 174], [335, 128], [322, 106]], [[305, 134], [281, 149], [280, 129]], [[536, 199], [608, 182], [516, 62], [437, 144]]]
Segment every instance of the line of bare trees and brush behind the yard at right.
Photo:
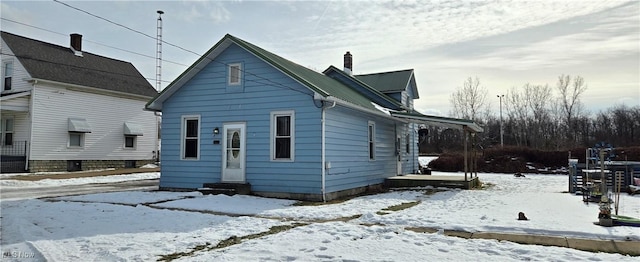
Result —
[[[586, 90], [581, 76], [561, 75], [553, 86], [526, 83], [498, 95], [502, 112], [496, 113], [490, 109], [488, 90], [477, 77], [469, 77], [451, 94], [450, 115], [471, 119], [484, 128], [475, 137], [480, 148], [502, 143], [538, 150], [592, 147], [599, 142], [640, 146], [640, 106], [614, 105], [591, 113], [581, 102]], [[459, 130], [425, 128], [428, 132], [420, 132], [420, 152], [442, 153], [462, 147]]]

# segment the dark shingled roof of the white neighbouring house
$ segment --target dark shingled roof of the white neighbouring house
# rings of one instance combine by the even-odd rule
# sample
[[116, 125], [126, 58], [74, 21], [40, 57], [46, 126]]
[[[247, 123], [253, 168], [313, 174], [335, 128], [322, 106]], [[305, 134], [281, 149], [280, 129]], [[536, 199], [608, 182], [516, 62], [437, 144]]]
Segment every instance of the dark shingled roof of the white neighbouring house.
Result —
[[153, 97], [155, 88], [133, 64], [2, 31], [2, 39], [34, 79]]

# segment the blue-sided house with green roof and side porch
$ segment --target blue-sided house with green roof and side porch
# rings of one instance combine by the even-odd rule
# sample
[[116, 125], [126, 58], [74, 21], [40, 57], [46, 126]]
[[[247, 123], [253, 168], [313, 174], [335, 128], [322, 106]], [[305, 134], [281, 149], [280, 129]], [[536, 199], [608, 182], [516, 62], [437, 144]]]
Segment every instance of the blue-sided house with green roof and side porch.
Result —
[[481, 130], [413, 110], [413, 70], [316, 72], [226, 35], [146, 108], [162, 112], [160, 189], [249, 184], [253, 194], [330, 200], [417, 173], [418, 123]]

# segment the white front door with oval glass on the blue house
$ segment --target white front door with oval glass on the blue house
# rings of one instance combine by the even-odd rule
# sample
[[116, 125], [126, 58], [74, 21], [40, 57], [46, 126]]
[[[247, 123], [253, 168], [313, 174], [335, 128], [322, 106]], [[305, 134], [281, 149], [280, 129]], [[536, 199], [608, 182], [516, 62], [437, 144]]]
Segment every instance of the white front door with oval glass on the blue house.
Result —
[[222, 182], [245, 182], [245, 124], [225, 124], [222, 135]]

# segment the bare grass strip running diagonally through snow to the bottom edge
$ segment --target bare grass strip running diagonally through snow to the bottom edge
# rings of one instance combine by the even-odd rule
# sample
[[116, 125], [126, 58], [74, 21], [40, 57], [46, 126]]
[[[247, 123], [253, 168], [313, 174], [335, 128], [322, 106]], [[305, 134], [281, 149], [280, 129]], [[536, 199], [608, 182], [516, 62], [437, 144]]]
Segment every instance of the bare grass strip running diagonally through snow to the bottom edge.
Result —
[[171, 253], [171, 254], [168, 254], [168, 255], [161, 255], [160, 258], [157, 261], [173, 261], [173, 260], [178, 259], [178, 258], [192, 256], [196, 252], [211, 251], [211, 250], [215, 250], [215, 249], [225, 248], [225, 247], [229, 247], [229, 246], [240, 244], [244, 240], [256, 239], [256, 238], [260, 238], [260, 237], [264, 237], [264, 236], [268, 236], [268, 235], [278, 234], [280, 232], [284, 232], [284, 231], [287, 231], [287, 230], [292, 229], [292, 228], [296, 228], [296, 227], [299, 227], [299, 226], [306, 226], [306, 225], [308, 225], [308, 224], [306, 224], [306, 223], [293, 223], [291, 225], [272, 226], [271, 228], [269, 228], [269, 231], [265, 231], [265, 232], [260, 232], [260, 233], [251, 234], [251, 235], [242, 236], [242, 237], [231, 236], [231, 237], [229, 237], [229, 238], [227, 238], [225, 240], [222, 240], [222, 241], [218, 242], [218, 244], [216, 244], [215, 246], [213, 246], [209, 242], [206, 242], [206, 243], [204, 243], [202, 245], [197, 245], [197, 246], [191, 248], [191, 250], [186, 251], [186, 252], [176, 252], [176, 253]]

